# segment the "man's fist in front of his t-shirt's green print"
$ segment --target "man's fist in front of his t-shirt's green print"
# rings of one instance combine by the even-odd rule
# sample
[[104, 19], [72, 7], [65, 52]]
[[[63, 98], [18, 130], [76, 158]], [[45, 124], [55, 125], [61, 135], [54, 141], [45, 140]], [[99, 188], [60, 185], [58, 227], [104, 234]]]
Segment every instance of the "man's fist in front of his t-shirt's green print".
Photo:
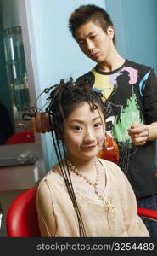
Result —
[[127, 131], [132, 138], [132, 143], [137, 146], [144, 145], [149, 138], [149, 125], [134, 122]]

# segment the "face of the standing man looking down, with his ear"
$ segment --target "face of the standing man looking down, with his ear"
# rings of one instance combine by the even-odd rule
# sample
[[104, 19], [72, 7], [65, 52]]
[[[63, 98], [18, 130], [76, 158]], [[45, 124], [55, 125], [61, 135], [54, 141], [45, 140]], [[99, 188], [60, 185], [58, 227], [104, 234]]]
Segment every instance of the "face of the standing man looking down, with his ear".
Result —
[[107, 61], [112, 54], [114, 28], [109, 26], [107, 32], [93, 21], [76, 29], [76, 40], [88, 58], [98, 63]]

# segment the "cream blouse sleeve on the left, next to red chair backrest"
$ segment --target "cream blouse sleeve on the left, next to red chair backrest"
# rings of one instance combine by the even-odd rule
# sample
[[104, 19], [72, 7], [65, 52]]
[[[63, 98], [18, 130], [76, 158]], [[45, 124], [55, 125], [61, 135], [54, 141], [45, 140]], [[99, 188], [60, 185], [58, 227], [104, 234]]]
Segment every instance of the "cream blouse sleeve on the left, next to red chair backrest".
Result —
[[56, 220], [53, 211], [53, 200], [51, 189], [44, 180], [37, 190], [36, 210], [41, 236], [55, 236]]

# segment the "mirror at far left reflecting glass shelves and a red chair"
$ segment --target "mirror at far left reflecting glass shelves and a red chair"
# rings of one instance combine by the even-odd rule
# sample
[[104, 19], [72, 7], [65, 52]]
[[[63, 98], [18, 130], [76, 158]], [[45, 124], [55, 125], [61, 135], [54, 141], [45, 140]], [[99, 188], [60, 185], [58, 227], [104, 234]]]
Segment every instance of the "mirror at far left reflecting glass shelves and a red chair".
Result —
[[[11, 11], [12, 8], [7, 6], [7, 2], [4, 3], [1, 0], [0, 3], [1, 11], [5, 13], [6, 7]], [[11, 20], [4, 25], [7, 19], [9, 16], [6, 18], [6, 13], [5, 15], [2, 13], [0, 20], [0, 145], [33, 143], [34, 134], [30, 131], [30, 123], [22, 120], [22, 113], [30, 106], [22, 28], [14, 26], [15, 23]]]

